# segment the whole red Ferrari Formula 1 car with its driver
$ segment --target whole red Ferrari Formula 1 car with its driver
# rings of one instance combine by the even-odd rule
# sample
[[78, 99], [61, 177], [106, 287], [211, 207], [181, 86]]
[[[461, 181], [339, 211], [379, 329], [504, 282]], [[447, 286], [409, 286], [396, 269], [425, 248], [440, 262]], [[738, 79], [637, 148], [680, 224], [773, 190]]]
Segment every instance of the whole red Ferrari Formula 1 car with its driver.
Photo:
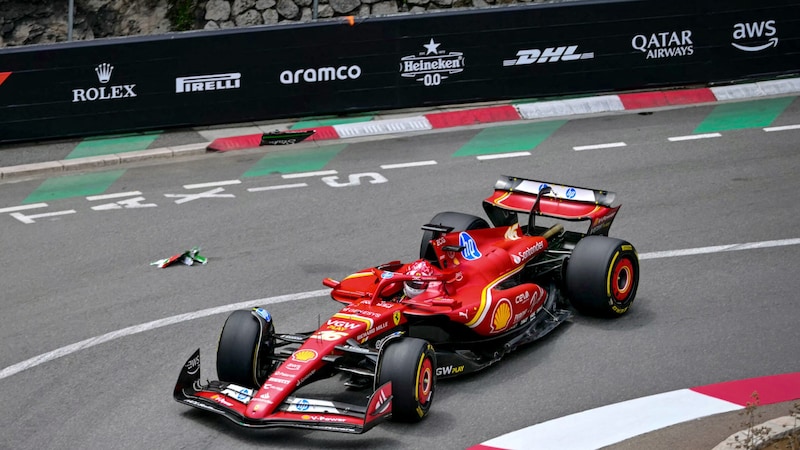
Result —
[[[608, 237], [615, 197], [502, 177], [483, 202], [491, 225], [439, 213], [422, 226], [419, 260], [323, 280], [344, 307], [319, 329], [279, 334], [263, 308], [233, 312], [217, 348], [220, 381], [200, 382], [198, 349], [174, 397], [245, 427], [363, 433], [387, 418], [419, 421], [437, 379], [484, 369], [575, 310], [628, 311], [639, 262], [630, 243]], [[537, 225], [540, 216], [556, 224]], [[588, 221], [588, 230], [567, 231], [562, 220]], [[304, 393], [334, 376], [358, 401]]]

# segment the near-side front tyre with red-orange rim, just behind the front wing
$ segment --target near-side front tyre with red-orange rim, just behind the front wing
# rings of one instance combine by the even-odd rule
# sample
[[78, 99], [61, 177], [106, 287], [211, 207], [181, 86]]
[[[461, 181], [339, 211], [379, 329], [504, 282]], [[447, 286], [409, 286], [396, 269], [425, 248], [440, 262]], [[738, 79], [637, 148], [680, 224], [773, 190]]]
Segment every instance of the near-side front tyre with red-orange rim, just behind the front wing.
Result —
[[392, 382], [392, 420], [419, 422], [436, 391], [436, 353], [428, 341], [397, 338], [381, 351], [377, 386]]

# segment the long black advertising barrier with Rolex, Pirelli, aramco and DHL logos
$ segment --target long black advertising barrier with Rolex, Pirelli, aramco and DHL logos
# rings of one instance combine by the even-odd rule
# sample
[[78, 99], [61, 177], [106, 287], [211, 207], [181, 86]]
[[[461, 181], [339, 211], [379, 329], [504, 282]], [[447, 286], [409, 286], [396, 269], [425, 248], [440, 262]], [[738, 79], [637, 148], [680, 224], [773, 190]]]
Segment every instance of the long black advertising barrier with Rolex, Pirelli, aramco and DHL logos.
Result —
[[577, 1], [0, 50], [0, 142], [800, 71], [800, 0]]

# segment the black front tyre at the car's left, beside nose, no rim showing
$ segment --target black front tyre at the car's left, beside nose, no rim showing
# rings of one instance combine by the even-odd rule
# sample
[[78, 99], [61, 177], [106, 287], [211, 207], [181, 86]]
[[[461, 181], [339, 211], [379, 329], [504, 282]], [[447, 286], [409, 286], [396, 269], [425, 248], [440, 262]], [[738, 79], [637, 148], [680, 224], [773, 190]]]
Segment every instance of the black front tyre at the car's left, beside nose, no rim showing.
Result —
[[[265, 330], [274, 334], [272, 321]], [[259, 361], [260, 343], [264, 341], [261, 324], [249, 310], [234, 311], [228, 316], [217, 345], [217, 375], [222, 381], [241, 386], [258, 387], [266, 375]]]

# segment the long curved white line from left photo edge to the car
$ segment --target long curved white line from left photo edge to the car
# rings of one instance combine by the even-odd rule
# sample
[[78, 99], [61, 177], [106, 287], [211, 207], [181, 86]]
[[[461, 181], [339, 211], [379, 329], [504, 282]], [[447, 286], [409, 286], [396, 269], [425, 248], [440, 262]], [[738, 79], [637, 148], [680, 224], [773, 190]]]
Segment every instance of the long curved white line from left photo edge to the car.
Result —
[[57, 348], [53, 351], [43, 353], [39, 356], [34, 356], [33, 358], [14, 364], [13, 366], [8, 366], [2, 371], [0, 371], [0, 380], [2, 380], [3, 378], [8, 378], [11, 375], [17, 374], [19, 372], [22, 372], [23, 370], [30, 369], [31, 367], [35, 367], [40, 364], [44, 364], [48, 361], [52, 361], [56, 358], [66, 356], [80, 350], [85, 350], [87, 348], [91, 348], [108, 341], [113, 341], [121, 337], [132, 336], [134, 334], [155, 330], [157, 328], [166, 327], [168, 325], [174, 325], [176, 323], [186, 322], [187, 320], [200, 319], [202, 317], [213, 316], [215, 314], [226, 313], [237, 309], [248, 309], [254, 306], [261, 306], [261, 305], [266, 306], [266, 305], [273, 305], [275, 303], [283, 303], [283, 302], [290, 302], [297, 300], [305, 300], [314, 297], [322, 297], [324, 295], [330, 294], [330, 292], [331, 292], [330, 289], [320, 289], [318, 291], [301, 292], [299, 294], [286, 294], [286, 295], [279, 295], [277, 297], [260, 298], [258, 300], [233, 303], [230, 305], [217, 306], [215, 308], [203, 309], [191, 313], [179, 314], [177, 316], [158, 319], [152, 322], [147, 322], [140, 325], [134, 325], [131, 327], [123, 328], [121, 330], [111, 331], [109, 333], [100, 336], [95, 336], [93, 338], [76, 342], [72, 345], [67, 345], [66, 347]]

